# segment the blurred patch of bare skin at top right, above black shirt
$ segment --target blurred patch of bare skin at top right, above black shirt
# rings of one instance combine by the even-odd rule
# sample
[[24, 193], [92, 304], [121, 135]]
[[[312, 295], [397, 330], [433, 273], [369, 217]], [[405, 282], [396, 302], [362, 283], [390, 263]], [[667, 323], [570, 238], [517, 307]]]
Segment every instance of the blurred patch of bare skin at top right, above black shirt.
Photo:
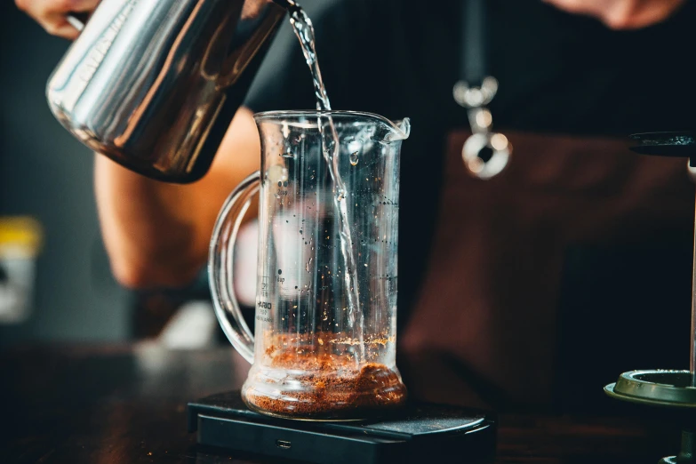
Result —
[[566, 12], [586, 14], [612, 29], [645, 28], [667, 20], [686, 0], [543, 0]]

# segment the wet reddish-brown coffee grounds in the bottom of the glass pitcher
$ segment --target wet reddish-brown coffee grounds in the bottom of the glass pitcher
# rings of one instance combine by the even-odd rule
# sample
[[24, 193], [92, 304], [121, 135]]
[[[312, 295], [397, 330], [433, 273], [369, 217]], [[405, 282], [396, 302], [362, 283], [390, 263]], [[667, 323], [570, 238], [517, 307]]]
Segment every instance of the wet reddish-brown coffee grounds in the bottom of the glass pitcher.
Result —
[[[261, 368], [244, 388], [244, 400], [252, 409], [285, 417], [348, 419], [366, 417], [406, 400], [404, 384], [384, 364], [368, 363], [358, 368], [348, 356], [299, 355], [293, 350], [273, 356], [270, 370], [275, 369], [305, 372], [292, 376], [303, 389], [281, 392]], [[267, 393], [270, 391], [274, 394]]]

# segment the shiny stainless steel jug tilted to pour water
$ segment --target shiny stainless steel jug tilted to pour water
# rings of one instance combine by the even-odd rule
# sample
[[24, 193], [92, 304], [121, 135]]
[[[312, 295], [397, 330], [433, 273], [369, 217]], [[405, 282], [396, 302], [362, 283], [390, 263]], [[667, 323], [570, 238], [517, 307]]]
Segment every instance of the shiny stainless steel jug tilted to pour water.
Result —
[[[292, 2], [290, 2], [292, 4]], [[208, 171], [287, 0], [102, 0], [49, 79], [87, 147], [168, 182]]]

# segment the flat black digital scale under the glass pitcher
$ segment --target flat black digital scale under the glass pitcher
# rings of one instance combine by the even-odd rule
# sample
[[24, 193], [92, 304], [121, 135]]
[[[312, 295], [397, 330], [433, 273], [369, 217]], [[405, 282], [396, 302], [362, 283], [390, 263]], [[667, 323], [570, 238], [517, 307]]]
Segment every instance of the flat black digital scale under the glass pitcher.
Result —
[[238, 391], [188, 404], [198, 444], [316, 464], [492, 462], [496, 425], [488, 412], [413, 403], [379, 420], [284, 420], [246, 408]]

